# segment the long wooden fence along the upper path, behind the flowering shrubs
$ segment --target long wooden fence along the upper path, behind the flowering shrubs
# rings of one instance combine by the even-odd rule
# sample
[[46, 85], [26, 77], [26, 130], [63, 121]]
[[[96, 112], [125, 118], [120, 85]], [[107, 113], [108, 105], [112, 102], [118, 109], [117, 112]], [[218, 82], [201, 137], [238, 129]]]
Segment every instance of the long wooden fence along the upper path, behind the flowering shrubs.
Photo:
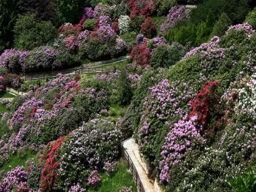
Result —
[[35, 80], [35, 79], [45, 79], [46, 77], [56, 77], [58, 73], [65, 75], [75, 75], [75, 74], [85, 74], [85, 73], [103, 73], [114, 71], [118, 69], [117, 67], [107, 66], [107, 67], [85, 67], [82, 69], [66, 69], [61, 71], [49, 71], [42, 73], [26, 73], [21, 78], [24, 81]]

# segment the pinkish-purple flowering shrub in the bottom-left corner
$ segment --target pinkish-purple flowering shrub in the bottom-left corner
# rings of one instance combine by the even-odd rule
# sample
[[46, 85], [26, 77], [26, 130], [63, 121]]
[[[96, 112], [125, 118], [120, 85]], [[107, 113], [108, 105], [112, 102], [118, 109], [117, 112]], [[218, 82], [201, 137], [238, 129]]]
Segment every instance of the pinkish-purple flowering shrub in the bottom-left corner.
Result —
[[0, 181], [0, 191], [11, 192], [13, 189], [22, 185], [28, 179], [27, 172], [24, 170], [24, 166], [17, 166], [7, 172], [7, 176]]

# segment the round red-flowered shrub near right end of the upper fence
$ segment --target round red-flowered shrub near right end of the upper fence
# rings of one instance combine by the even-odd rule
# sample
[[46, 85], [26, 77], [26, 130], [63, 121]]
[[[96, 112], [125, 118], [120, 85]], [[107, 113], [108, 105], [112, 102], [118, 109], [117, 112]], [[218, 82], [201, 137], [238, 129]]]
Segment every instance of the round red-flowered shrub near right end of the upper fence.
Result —
[[131, 51], [130, 54], [130, 59], [135, 61], [136, 65], [140, 66], [148, 66], [150, 63], [152, 54], [150, 51], [147, 49], [147, 45], [139, 45], [135, 46], [135, 48]]

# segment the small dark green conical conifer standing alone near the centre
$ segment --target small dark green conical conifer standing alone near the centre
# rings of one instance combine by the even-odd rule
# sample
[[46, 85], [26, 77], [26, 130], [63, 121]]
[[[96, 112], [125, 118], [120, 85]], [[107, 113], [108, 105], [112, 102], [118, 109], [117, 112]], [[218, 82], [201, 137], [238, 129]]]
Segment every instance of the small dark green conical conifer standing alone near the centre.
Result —
[[117, 80], [117, 99], [121, 105], [125, 105], [129, 104], [132, 96], [131, 82], [127, 77], [126, 71], [122, 70]]

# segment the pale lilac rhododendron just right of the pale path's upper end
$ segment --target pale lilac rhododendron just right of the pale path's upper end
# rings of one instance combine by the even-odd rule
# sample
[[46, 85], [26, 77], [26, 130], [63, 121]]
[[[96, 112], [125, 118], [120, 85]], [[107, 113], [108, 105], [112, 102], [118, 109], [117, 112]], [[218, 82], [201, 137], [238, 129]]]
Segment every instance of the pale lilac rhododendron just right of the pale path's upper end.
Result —
[[[190, 87], [189, 83], [170, 84], [167, 79], [162, 79], [156, 86], [149, 88], [140, 113], [139, 127], [135, 131], [139, 150], [145, 156], [152, 160], [158, 156], [163, 139], [170, 131], [168, 121], [175, 123], [175, 119], [187, 114], [187, 104], [195, 93], [196, 90]], [[157, 144], [156, 137], [158, 137]]]

